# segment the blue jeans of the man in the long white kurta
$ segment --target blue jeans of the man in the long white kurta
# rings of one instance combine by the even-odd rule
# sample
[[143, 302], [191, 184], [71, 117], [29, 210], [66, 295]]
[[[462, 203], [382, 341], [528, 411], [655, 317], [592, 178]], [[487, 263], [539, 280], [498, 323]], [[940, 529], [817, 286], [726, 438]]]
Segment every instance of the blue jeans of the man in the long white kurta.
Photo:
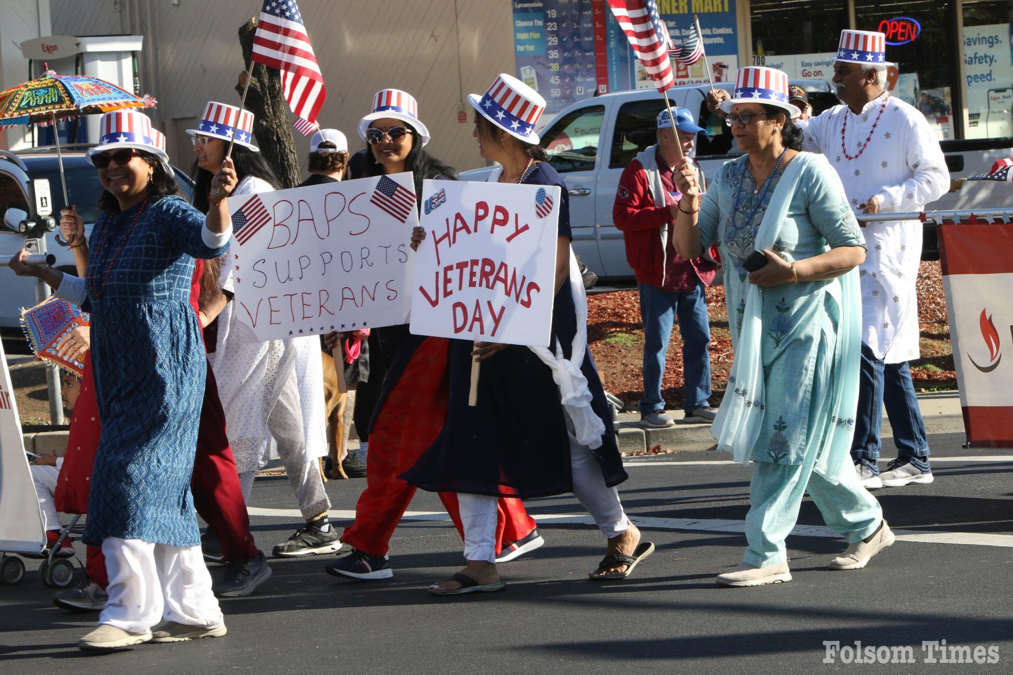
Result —
[[882, 409], [893, 427], [898, 456], [924, 457], [929, 454], [925, 422], [918, 407], [911, 368], [907, 361], [886, 363], [876, 358], [862, 343], [862, 367], [858, 384], [858, 411], [855, 414], [855, 437], [851, 456], [875, 461], [882, 445]]

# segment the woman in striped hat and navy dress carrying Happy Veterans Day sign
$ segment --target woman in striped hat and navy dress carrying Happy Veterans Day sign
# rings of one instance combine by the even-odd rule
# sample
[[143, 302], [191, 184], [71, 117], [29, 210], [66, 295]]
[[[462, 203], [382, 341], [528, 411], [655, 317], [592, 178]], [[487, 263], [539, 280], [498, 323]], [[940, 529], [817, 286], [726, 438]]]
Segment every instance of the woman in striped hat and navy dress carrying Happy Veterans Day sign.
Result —
[[[546, 162], [534, 131], [545, 99], [501, 74], [483, 96], [468, 100], [476, 111], [479, 151], [499, 164], [490, 182], [561, 188], [552, 340], [549, 349], [452, 341], [447, 423], [404, 478], [426, 490], [459, 493], [468, 565], [430, 591], [452, 595], [504, 586], [492, 546], [496, 496], [573, 492], [608, 539], [606, 556], [590, 578], [625, 578], [654, 546], [640, 541], [615, 487], [627, 475], [588, 351], [588, 302], [570, 249], [566, 184]], [[482, 362], [475, 407], [468, 405], [472, 359]]]

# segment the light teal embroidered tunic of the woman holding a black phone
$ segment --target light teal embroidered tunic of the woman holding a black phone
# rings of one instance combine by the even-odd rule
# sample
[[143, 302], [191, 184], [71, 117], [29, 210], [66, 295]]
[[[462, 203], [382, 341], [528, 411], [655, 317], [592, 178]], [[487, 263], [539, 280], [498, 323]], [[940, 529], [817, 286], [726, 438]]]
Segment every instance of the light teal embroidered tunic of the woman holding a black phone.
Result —
[[[811, 157], [800, 153], [793, 160], [805, 166], [774, 245], [774, 251], [788, 262], [814, 257], [830, 248], [865, 247], [839, 178], [826, 163], [809, 161]], [[721, 167], [704, 195], [698, 221], [704, 248], [717, 244], [721, 252], [728, 327], [736, 350], [750, 287], [743, 261], [755, 250], [757, 231], [785, 168], [771, 176], [766, 192], [761, 189], [761, 194], [754, 194], [753, 175], [744, 171], [747, 159], [744, 155]], [[853, 419], [833, 419], [829, 412], [831, 385], [840, 376], [833, 364], [840, 317], [837, 303], [828, 294], [831, 283], [834, 280], [799, 281], [763, 289], [766, 396], [763, 402], [754, 403], [766, 407], [753, 446], [754, 461], [800, 465], [806, 454], [823, 446], [832, 425], [854, 424]], [[749, 400], [751, 394], [729, 379], [725, 396]]]

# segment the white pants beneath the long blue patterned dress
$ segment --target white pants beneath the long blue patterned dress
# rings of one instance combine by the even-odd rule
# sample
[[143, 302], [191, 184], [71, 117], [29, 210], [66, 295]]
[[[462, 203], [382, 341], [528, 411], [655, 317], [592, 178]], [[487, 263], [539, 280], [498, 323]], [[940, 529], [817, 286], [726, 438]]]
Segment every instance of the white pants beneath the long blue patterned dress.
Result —
[[102, 554], [109, 599], [99, 623], [146, 634], [163, 619], [208, 627], [223, 622], [201, 546], [110, 536], [102, 539]]

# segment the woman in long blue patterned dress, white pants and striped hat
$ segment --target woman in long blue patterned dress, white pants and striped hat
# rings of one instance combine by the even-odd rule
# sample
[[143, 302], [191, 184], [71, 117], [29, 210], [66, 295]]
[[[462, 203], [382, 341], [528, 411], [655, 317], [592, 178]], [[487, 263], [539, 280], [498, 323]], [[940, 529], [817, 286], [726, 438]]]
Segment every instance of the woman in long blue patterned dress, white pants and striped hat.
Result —
[[189, 487], [207, 369], [189, 299], [193, 259], [228, 244], [221, 201], [231, 178], [216, 176], [217, 205], [206, 218], [178, 196], [144, 114], [111, 112], [104, 121], [108, 133], [87, 155], [104, 188], [87, 275], [29, 271], [91, 312], [102, 430], [81, 538], [101, 544], [109, 597], [83, 650], [137, 645], [153, 632], [156, 642], [226, 632]]

